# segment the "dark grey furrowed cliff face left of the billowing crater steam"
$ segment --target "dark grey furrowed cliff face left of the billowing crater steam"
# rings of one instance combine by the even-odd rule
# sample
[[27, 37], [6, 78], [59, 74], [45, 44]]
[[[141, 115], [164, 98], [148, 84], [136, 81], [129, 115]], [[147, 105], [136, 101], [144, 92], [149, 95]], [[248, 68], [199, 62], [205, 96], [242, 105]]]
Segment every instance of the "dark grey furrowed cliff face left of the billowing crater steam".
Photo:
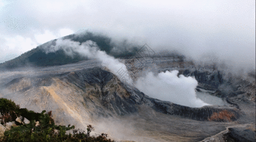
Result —
[[[143, 93], [129, 91], [114, 74], [98, 67], [69, 72], [60, 75], [59, 78], [81, 89], [85, 102], [91, 102], [102, 110], [107, 109], [116, 115], [137, 112], [136, 105], [140, 104], [137, 99], [144, 97]], [[103, 112], [99, 113], [104, 114]]]

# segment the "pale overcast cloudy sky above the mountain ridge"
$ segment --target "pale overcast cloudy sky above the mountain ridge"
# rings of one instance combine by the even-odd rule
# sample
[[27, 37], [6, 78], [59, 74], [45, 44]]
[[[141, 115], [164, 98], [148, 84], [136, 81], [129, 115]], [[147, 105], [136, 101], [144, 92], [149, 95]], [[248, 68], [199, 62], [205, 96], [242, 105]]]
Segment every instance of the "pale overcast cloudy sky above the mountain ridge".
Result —
[[84, 29], [255, 68], [255, 6], [255, 0], [0, 0], [0, 62]]

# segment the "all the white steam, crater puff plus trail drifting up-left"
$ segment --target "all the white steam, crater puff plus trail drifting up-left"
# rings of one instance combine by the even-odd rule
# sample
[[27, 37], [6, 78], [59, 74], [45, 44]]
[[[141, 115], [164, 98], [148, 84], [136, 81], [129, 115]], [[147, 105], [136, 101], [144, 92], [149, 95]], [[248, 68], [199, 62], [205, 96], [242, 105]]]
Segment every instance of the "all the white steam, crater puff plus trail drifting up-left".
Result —
[[[105, 51], [100, 51], [95, 42], [89, 40], [80, 44], [69, 39], [58, 39], [56, 46], [50, 48], [47, 52], [56, 52], [60, 48], [69, 56], [79, 53], [82, 56], [97, 59], [101, 62], [102, 66], [107, 67], [120, 80], [126, 81], [129, 84], [133, 83], [133, 80], [128, 75], [125, 64], [109, 56]], [[146, 77], [138, 78], [135, 86], [149, 97], [171, 101], [179, 105], [188, 107], [209, 105], [196, 97], [197, 80], [183, 75], [178, 77], [177, 74], [178, 71], [166, 71], [159, 73], [158, 76], [154, 76], [152, 72], [148, 72]]]

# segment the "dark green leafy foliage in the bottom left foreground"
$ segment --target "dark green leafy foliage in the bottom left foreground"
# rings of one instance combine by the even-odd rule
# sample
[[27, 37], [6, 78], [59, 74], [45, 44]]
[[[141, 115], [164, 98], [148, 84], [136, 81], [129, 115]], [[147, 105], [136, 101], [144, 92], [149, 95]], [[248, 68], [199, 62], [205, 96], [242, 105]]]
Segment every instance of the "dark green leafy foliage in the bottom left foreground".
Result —
[[[18, 116], [30, 115], [29, 124], [17, 124], [12, 126], [9, 131], [4, 132], [4, 136], [0, 137], [0, 142], [114, 142], [107, 139], [107, 134], [102, 133], [98, 136], [90, 136], [93, 131], [91, 125], [87, 126], [87, 133], [81, 129], [74, 129], [75, 126], [68, 127], [55, 125], [51, 118], [51, 111], [45, 114], [45, 110], [41, 113], [20, 109], [14, 102], [6, 98], [0, 98], [1, 118], [8, 116], [8, 120], [2, 121], [3, 124], [14, 121]], [[39, 125], [36, 126], [36, 121]], [[66, 134], [66, 131], [73, 130], [73, 134]]]

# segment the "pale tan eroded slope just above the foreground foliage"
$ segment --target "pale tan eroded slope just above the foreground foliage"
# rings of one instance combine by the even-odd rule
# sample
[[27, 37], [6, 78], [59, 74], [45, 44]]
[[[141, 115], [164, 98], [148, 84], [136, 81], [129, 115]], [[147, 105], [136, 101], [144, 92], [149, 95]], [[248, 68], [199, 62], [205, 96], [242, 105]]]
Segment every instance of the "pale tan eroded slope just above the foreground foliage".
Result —
[[85, 128], [91, 122], [89, 111], [80, 109], [82, 96], [76, 88], [66, 88], [68, 84], [58, 78], [20, 78], [18, 82], [12, 82], [2, 90], [1, 97], [14, 100], [21, 108], [35, 112], [52, 110], [57, 124]]

